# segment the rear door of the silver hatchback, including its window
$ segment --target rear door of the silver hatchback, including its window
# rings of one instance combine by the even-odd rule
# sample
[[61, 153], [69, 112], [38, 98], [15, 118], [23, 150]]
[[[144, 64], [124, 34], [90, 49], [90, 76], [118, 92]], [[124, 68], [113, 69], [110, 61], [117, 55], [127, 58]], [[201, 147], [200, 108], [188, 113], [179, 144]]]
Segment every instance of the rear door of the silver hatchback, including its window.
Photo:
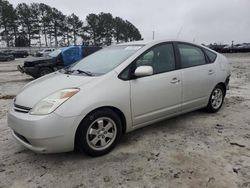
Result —
[[202, 48], [189, 43], [177, 43], [181, 63], [182, 111], [207, 104], [214, 87], [215, 66], [209, 63]]

